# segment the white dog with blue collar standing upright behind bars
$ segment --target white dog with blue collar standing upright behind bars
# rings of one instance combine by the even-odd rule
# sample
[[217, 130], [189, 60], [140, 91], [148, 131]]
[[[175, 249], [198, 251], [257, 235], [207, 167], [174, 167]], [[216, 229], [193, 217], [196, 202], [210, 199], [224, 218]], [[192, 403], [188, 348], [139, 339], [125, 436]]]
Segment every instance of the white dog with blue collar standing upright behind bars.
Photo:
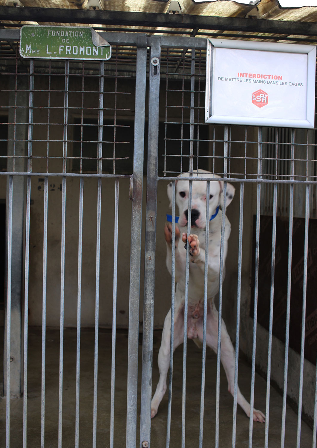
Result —
[[[199, 170], [199, 177], [214, 177], [212, 173]], [[191, 203], [191, 228], [195, 234], [187, 236], [188, 217], [188, 191], [189, 182], [182, 181], [181, 177], [188, 177], [188, 174], [178, 176], [176, 180], [176, 204], [179, 209], [178, 226], [175, 226], [175, 312], [174, 312], [174, 349], [182, 344], [184, 339], [184, 300], [185, 300], [185, 270], [186, 270], [186, 249], [181, 244], [189, 244], [190, 266], [189, 266], [189, 286], [188, 286], [188, 318], [187, 337], [189, 339], [203, 340], [203, 314], [204, 314], [204, 260], [205, 260], [205, 223], [206, 223], [206, 182], [193, 181], [192, 203]], [[219, 177], [219, 176], [216, 176]], [[195, 175], [194, 177], [195, 178]], [[234, 186], [227, 183], [226, 205], [229, 205], [234, 197]], [[222, 212], [219, 205], [222, 205], [222, 181], [210, 182], [209, 196], [209, 242], [208, 242], [208, 304], [207, 304], [207, 328], [206, 344], [217, 353], [218, 337], [218, 311], [213, 302], [213, 298], [219, 290], [219, 264], [220, 264], [220, 241], [221, 241], [221, 220]], [[171, 201], [172, 183], [169, 183], [167, 194]], [[171, 204], [170, 204], [171, 206]], [[224, 237], [224, 260], [226, 260], [228, 238], [230, 236], [230, 222], [226, 217], [225, 237]], [[166, 265], [171, 273], [172, 261], [172, 224], [165, 224], [165, 240], [167, 246]], [[225, 268], [223, 268], [223, 278]], [[166, 391], [166, 377], [169, 370], [170, 352], [170, 322], [171, 310], [169, 310], [163, 327], [161, 348], [158, 354], [158, 366], [160, 379], [156, 387], [156, 392], [152, 398], [151, 417], [153, 418], [161, 403]], [[197, 341], [198, 342], [198, 341]], [[221, 362], [226, 371], [228, 380], [228, 390], [234, 393], [234, 348], [230, 336], [226, 330], [226, 325], [222, 320], [221, 324]], [[250, 404], [239, 390], [237, 392], [237, 402], [244, 412], [250, 417]], [[261, 411], [253, 409], [253, 420], [265, 422], [265, 415]]]

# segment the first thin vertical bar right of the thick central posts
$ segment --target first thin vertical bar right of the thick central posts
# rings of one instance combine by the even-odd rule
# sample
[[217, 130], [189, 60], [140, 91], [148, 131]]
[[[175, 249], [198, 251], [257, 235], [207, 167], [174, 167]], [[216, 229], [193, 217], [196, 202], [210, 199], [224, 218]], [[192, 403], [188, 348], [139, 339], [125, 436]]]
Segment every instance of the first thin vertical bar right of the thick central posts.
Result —
[[172, 386], [173, 386], [173, 361], [174, 361], [174, 315], [175, 315], [175, 189], [176, 182], [172, 182], [172, 285], [171, 285], [171, 326], [170, 326], [170, 350], [169, 350], [169, 401], [167, 405], [167, 430], [166, 448], [169, 448], [170, 426], [172, 415]]

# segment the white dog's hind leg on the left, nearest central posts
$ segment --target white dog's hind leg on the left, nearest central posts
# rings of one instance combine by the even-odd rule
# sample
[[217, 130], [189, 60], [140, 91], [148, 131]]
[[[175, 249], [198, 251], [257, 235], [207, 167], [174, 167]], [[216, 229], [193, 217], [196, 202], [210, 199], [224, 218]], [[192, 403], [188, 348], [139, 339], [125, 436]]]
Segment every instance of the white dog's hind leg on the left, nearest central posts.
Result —
[[[170, 324], [171, 324], [171, 310], [167, 313], [164, 321], [162, 332], [161, 347], [157, 358], [157, 363], [160, 372], [160, 379], [156, 386], [155, 394], [151, 402], [151, 418], [157, 414], [157, 409], [166, 392], [167, 372], [169, 370], [169, 355], [170, 355]], [[174, 350], [178, 345], [182, 344], [184, 340], [184, 314], [175, 310], [174, 318]]]

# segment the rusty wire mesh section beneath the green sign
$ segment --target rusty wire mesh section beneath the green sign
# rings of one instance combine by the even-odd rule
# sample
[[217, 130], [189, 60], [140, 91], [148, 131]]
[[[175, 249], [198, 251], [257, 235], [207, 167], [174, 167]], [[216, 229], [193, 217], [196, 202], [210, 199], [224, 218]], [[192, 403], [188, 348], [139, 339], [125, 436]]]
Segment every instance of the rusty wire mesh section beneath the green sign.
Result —
[[[135, 52], [114, 47], [105, 66], [25, 61], [17, 44], [1, 48], [2, 171], [8, 160], [13, 172], [132, 173], [134, 82], [123, 67], [135, 69]], [[23, 144], [28, 155], [17, 151]], [[18, 159], [24, 169], [17, 169]]]

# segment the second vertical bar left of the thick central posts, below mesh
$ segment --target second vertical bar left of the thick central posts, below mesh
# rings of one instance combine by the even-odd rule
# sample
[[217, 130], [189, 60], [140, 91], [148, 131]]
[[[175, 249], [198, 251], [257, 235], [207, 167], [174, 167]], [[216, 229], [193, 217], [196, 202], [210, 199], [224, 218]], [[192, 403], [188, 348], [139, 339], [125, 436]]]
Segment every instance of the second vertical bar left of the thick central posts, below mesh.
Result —
[[97, 192], [97, 241], [96, 241], [96, 298], [95, 298], [95, 355], [94, 355], [94, 403], [92, 422], [92, 447], [97, 439], [97, 390], [98, 390], [98, 340], [99, 340], [99, 288], [100, 288], [100, 234], [101, 234], [101, 179]]

